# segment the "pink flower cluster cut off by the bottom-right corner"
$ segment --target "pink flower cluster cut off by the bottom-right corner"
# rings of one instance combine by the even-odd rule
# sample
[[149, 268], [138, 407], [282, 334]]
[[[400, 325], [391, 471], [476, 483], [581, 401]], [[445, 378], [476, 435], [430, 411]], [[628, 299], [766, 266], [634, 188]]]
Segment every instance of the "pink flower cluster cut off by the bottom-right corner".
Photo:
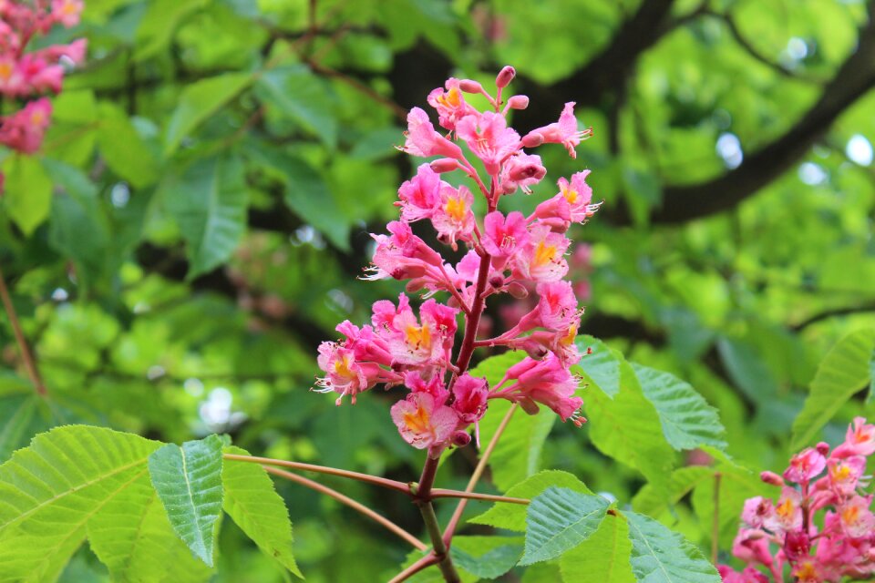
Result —
[[763, 481], [780, 486], [781, 495], [777, 503], [762, 496], [746, 501], [732, 552], [747, 567], [738, 573], [720, 565], [723, 580], [767, 583], [757, 569], [762, 567], [780, 583], [785, 566], [798, 583], [875, 576], [872, 495], [862, 493], [869, 479], [866, 458], [873, 453], [875, 425], [857, 417], [831, 454], [829, 445], [820, 443], [794, 455], [783, 477], [764, 472]]

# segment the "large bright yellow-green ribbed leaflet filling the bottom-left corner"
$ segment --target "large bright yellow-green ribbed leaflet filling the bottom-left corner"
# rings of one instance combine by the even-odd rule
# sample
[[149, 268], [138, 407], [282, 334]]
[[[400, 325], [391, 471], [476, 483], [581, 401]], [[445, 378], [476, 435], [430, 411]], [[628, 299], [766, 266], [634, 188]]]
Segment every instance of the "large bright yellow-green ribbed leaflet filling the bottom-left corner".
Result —
[[102, 427], [37, 435], [0, 465], [0, 573], [52, 581], [86, 537], [88, 522], [146, 476], [159, 442]]

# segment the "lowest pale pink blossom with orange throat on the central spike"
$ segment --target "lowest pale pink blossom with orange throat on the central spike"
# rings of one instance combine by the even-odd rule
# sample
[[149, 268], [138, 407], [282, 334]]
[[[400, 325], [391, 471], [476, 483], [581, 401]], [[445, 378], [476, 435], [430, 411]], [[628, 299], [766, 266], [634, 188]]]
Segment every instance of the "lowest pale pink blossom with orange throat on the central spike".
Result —
[[398, 432], [417, 449], [446, 445], [458, 424], [458, 414], [428, 393], [408, 394], [407, 399], [392, 405], [391, 414]]

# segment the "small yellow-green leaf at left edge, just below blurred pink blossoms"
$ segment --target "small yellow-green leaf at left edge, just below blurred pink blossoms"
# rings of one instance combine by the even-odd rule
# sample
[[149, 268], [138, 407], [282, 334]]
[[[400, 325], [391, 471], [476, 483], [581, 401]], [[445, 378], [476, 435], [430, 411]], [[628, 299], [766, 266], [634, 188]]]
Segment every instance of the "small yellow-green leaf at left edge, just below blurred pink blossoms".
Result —
[[6, 212], [29, 237], [52, 207], [52, 181], [39, 159], [15, 153], [3, 161]]

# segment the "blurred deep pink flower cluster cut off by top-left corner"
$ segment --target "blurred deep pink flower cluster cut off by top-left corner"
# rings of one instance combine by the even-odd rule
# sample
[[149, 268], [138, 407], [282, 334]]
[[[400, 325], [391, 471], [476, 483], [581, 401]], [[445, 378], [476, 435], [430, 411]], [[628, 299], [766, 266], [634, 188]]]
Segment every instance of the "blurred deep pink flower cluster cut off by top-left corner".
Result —
[[27, 51], [30, 41], [49, 29], [76, 26], [82, 0], [0, 0], [0, 97], [37, 97], [8, 116], [0, 116], [0, 144], [32, 154], [42, 145], [52, 106], [46, 93], [58, 93], [64, 64], [77, 65], [85, 58], [86, 41]]

